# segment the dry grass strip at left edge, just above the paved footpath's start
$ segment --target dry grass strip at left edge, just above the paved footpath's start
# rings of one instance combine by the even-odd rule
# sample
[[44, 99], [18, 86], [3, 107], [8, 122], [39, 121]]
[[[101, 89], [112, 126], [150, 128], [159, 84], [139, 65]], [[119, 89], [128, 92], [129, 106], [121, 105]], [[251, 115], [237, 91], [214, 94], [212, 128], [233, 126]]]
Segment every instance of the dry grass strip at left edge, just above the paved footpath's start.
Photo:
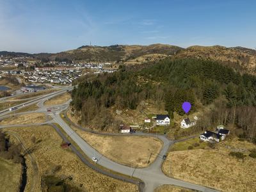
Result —
[[25, 125], [46, 122], [44, 113], [29, 113], [4, 118], [0, 125]]

